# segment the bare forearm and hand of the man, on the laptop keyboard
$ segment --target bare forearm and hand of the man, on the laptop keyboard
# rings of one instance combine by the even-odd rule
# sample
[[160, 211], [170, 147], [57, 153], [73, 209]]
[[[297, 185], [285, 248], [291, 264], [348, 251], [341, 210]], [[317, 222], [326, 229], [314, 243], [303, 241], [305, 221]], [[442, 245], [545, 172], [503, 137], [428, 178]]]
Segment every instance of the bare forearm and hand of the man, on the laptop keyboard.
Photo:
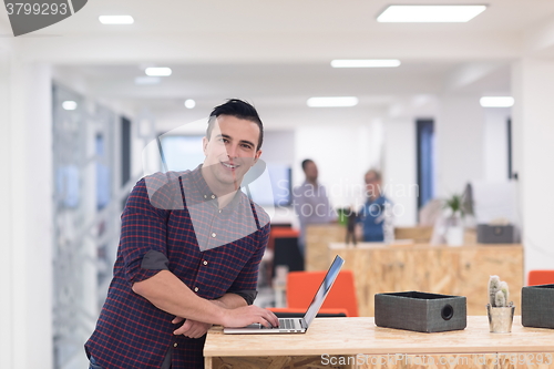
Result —
[[255, 322], [266, 327], [278, 325], [271, 311], [254, 305], [246, 306], [238, 295], [227, 294], [234, 296], [225, 295], [216, 304], [198, 297], [168, 270], [161, 270], [148, 279], [133, 284], [133, 291], [158, 309], [186, 319], [226, 327], [244, 327]]

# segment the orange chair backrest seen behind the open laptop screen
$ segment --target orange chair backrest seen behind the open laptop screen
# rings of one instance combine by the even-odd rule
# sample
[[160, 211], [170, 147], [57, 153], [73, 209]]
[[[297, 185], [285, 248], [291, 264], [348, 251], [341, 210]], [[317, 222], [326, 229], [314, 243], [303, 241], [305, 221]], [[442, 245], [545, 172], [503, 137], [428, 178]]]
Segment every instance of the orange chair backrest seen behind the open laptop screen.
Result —
[[[288, 308], [306, 311], [327, 271], [290, 271], [287, 275]], [[325, 299], [322, 309], [346, 309], [349, 317], [358, 316], [358, 299], [352, 270], [341, 270]]]

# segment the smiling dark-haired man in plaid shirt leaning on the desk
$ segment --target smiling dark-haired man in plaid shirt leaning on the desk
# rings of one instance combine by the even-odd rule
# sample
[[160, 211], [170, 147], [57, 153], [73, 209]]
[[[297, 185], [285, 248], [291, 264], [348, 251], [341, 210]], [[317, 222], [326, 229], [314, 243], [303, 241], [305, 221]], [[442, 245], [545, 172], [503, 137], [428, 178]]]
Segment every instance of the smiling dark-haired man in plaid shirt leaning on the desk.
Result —
[[229, 100], [209, 116], [202, 165], [136, 184], [107, 298], [85, 344], [91, 368], [204, 368], [212, 324], [278, 325], [252, 305], [269, 217], [240, 191], [261, 142], [256, 110]]

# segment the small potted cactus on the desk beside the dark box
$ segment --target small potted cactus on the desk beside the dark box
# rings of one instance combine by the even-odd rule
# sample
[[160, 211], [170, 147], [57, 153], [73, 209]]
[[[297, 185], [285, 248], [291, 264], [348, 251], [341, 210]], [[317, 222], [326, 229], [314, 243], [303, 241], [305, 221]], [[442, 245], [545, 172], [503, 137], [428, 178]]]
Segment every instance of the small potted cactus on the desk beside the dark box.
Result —
[[491, 276], [489, 279], [489, 327], [494, 334], [509, 334], [512, 331], [515, 306], [510, 301], [510, 290], [505, 281], [501, 281], [499, 276]]

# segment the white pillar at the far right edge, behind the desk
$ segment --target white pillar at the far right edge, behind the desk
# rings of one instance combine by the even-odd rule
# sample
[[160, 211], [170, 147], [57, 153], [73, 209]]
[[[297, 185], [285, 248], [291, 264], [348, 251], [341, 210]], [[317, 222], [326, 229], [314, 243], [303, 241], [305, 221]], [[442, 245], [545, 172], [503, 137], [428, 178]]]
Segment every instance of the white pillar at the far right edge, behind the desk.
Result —
[[514, 171], [519, 174], [525, 270], [554, 265], [554, 60], [512, 68]]

